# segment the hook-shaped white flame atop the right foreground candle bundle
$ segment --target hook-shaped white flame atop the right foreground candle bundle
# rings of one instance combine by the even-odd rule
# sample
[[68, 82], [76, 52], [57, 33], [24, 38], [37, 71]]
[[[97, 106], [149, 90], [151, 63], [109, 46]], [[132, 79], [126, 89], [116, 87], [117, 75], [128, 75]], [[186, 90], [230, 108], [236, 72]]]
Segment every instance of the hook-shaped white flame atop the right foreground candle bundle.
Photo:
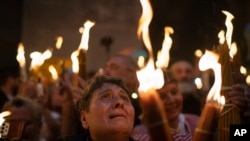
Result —
[[219, 104], [224, 104], [220, 103], [223, 102], [223, 100], [221, 99], [222, 97], [220, 96], [222, 78], [221, 78], [221, 65], [218, 62], [218, 60], [219, 60], [218, 54], [206, 50], [205, 54], [201, 57], [199, 61], [199, 68], [201, 71], [212, 69], [215, 76], [214, 84], [207, 95], [206, 101], [217, 101]]

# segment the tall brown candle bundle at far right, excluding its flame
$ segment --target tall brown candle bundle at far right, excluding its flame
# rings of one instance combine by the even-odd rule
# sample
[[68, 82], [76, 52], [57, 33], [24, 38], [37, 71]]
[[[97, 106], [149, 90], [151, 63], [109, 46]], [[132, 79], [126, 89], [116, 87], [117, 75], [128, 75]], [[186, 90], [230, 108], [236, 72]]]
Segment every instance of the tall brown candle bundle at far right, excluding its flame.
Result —
[[228, 100], [228, 88], [234, 83], [232, 64], [230, 63], [228, 45], [224, 43], [218, 46], [217, 52], [221, 55], [220, 63], [222, 64], [222, 89], [221, 95], [225, 96], [226, 105], [219, 117], [218, 123], [218, 140], [229, 140], [230, 124], [240, 124], [240, 110]]

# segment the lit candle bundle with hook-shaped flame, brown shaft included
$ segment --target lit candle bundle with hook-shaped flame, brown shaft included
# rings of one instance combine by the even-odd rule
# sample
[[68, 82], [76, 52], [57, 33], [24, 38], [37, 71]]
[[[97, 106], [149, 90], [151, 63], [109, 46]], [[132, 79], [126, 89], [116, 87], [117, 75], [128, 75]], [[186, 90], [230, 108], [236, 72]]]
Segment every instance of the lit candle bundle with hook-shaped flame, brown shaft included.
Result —
[[206, 104], [202, 110], [201, 116], [197, 122], [193, 135], [193, 141], [211, 141], [213, 132], [217, 127], [219, 113], [225, 99], [220, 96], [221, 90], [221, 65], [218, 63], [219, 56], [211, 51], [206, 50], [205, 54], [199, 61], [201, 71], [212, 69], [214, 71], [214, 84], [211, 87]]

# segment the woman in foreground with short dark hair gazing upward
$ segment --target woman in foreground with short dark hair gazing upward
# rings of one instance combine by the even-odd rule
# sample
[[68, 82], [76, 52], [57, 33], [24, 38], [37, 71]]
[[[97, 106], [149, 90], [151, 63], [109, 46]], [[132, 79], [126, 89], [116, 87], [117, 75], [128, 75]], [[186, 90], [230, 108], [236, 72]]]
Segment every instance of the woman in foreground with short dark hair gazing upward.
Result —
[[131, 141], [134, 108], [123, 81], [99, 75], [91, 79], [78, 101], [83, 136], [68, 136], [62, 141]]

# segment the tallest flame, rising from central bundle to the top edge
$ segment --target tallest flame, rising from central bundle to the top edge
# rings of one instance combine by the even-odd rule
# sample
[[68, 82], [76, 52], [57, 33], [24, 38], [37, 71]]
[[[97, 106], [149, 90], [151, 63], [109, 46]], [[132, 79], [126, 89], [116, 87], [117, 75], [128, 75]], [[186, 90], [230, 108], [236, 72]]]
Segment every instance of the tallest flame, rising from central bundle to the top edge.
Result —
[[152, 8], [149, 0], [140, 0], [142, 5], [142, 16], [139, 20], [139, 26], [137, 30], [138, 37], [142, 35], [142, 40], [149, 52], [149, 59], [146, 66], [137, 71], [137, 77], [140, 82], [138, 88], [139, 92], [145, 92], [149, 89], [159, 89], [164, 84], [163, 72], [161, 69], [154, 67], [154, 58], [149, 38], [149, 24], [153, 17]]

